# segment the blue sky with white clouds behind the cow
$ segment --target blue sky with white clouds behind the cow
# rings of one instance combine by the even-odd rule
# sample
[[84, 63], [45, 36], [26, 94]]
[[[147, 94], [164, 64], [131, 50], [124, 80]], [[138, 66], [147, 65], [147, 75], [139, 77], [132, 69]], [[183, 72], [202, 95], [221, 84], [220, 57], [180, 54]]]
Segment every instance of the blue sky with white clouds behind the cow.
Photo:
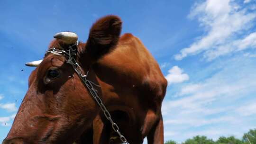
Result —
[[255, 0], [1, 0], [0, 139], [8, 133], [34, 68], [56, 32], [86, 41], [91, 24], [118, 15], [169, 82], [165, 140], [240, 138], [256, 128]]

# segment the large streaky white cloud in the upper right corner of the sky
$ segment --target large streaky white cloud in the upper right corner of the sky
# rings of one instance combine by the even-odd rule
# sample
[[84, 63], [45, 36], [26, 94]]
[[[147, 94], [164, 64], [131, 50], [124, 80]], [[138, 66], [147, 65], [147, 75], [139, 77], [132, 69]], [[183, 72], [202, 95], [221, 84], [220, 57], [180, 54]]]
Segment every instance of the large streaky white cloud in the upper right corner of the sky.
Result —
[[[180, 54], [174, 55], [176, 60], [199, 53], [203, 53], [207, 60], [213, 60], [220, 55], [256, 47], [255, 33], [248, 32], [256, 13], [248, 12], [247, 8], [241, 9], [234, 1], [207, 0], [198, 3], [189, 17], [197, 18], [207, 34], [189, 47], [183, 48]], [[244, 36], [244, 39], [236, 38], [247, 33], [250, 34]]]

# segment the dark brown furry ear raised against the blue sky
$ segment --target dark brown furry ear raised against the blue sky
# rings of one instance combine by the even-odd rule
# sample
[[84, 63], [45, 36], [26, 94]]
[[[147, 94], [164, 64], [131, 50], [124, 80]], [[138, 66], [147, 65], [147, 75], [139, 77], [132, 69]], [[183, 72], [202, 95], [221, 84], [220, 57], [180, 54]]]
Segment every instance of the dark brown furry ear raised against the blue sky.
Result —
[[110, 15], [98, 19], [91, 27], [85, 54], [95, 62], [109, 53], [117, 45], [121, 29], [122, 21], [117, 16]]

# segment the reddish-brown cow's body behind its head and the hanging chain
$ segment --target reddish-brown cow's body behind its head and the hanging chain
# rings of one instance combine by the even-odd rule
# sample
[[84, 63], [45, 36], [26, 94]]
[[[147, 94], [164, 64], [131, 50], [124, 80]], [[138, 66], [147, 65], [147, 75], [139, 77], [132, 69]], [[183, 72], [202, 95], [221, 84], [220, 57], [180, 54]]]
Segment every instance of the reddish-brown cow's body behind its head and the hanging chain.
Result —
[[[161, 103], [167, 81], [159, 65], [141, 41], [120, 37], [116, 49], [93, 65], [103, 94], [103, 103], [130, 144], [163, 144]], [[119, 136], [99, 114], [93, 122], [94, 144], [119, 144]]]

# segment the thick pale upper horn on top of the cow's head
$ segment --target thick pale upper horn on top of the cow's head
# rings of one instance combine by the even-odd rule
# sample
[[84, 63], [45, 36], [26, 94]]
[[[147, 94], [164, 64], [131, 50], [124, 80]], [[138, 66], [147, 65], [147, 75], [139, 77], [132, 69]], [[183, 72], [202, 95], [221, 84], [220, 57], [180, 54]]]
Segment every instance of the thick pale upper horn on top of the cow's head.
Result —
[[78, 36], [72, 32], [60, 32], [54, 35], [54, 38], [63, 40], [66, 44], [73, 44], [77, 41]]

